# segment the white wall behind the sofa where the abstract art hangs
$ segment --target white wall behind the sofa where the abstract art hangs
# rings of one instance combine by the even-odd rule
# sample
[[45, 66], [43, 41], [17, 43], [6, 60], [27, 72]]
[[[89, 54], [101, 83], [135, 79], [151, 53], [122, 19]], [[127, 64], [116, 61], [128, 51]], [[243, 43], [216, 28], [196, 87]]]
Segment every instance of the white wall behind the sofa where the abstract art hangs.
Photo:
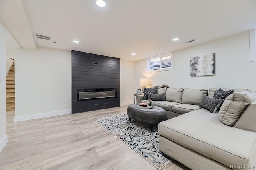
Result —
[[[216, 53], [214, 76], [190, 76], [190, 57]], [[148, 77], [153, 86], [173, 88], [248, 88], [256, 90], [256, 62], [250, 62], [249, 32], [174, 51], [174, 70], [147, 72], [146, 60], [134, 62], [134, 89], [138, 79]]]

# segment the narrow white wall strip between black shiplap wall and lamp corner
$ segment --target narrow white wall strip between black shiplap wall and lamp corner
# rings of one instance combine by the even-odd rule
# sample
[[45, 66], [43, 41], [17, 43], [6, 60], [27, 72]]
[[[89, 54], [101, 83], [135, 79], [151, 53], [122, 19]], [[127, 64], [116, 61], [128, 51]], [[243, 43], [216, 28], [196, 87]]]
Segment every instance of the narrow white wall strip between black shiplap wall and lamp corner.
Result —
[[133, 104], [134, 62], [120, 60], [120, 105]]

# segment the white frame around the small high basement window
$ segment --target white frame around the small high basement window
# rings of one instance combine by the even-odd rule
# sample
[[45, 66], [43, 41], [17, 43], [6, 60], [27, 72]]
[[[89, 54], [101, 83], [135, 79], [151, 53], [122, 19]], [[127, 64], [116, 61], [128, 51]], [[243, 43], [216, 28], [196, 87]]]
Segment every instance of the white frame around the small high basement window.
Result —
[[[171, 56], [171, 66], [168, 67], [168, 68], [161, 68], [161, 62], [162, 62], [162, 57], [167, 57], [167, 56]], [[155, 59], [155, 58], [158, 58], [160, 57], [160, 69], [157, 69], [157, 70], [150, 70], [150, 60], [151, 59]], [[167, 71], [167, 70], [173, 70], [173, 52], [170, 52], [170, 53], [164, 53], [164, 54], [161, 54], [161, 55], [156, 55], [154, 57], [150, 57], [150, 58], [147, 58], [146, 59], [146, 69], [147, 71], [149, 72], [156, 72], [156, 71]]]

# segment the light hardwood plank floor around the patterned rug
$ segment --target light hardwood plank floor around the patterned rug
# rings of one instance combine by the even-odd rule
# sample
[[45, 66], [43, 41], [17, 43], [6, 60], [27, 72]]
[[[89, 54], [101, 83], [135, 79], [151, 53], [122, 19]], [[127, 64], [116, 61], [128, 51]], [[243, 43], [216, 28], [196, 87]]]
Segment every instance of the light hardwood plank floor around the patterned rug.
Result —
[[[126, 113], [127, 106], [14, 123], [6, 113], [8, 143], [0, 170], [156, 170], [94, 119]], [[173, 160], [164, 169], [187, 170]]]

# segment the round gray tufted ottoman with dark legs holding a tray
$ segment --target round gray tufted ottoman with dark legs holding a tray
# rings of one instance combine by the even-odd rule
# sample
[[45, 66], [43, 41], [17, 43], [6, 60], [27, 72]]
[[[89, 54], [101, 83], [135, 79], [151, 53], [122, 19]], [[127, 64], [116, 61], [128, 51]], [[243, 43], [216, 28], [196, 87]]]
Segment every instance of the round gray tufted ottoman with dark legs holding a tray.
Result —
[[153, 125], [167, 120], [166, 110], [158, 106], [154, 106], [152, 109], [144, 109], [136, 107], [136, 104], [130, 104], [127, 107], [127, 115], [130, 122], [131, 119], [134, 119], [150, 124], [151, 132], [153, 131]]

